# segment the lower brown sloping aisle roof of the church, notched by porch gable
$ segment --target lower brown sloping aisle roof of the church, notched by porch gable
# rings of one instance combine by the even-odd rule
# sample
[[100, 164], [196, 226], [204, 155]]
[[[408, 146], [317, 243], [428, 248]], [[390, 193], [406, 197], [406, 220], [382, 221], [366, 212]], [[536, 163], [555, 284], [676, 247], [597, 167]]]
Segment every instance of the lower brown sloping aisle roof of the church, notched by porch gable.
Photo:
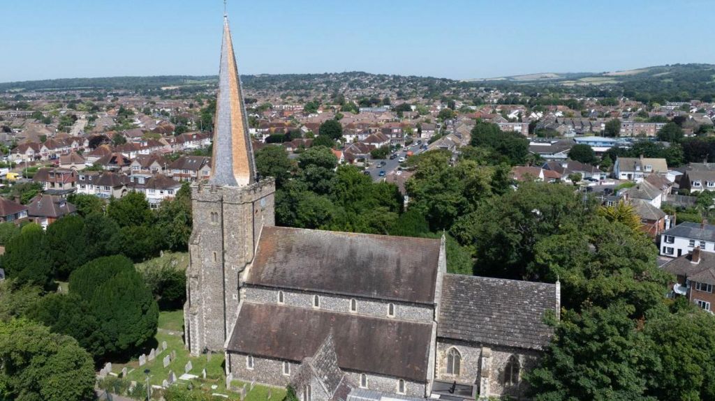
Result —
[[341, 369], [428, 380], [427, 323], [243, 303], [227, 351], [301, 362], [315, 355], [331, 330]]

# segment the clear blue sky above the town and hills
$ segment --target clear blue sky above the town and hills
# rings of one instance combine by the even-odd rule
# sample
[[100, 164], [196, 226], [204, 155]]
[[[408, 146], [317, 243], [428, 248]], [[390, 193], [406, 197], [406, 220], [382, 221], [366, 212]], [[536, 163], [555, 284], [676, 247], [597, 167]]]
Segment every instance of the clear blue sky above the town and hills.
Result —
[[[242, 73], [446, 78], [714, 63], [711, 2], [229, 0]], [[221, 0], [0, 0], [0, 82], [209, 75]]]

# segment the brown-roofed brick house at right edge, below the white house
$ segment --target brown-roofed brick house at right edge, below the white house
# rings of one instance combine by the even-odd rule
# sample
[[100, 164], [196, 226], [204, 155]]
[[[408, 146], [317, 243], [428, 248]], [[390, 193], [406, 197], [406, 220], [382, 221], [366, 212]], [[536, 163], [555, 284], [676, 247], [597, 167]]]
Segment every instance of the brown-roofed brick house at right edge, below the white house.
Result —
[[688, 298], [710, 313], [715, 308], [715, 253], [693, 248], [686, 255], [671, 260], [663, 268], [676, 276], [672, 295]]

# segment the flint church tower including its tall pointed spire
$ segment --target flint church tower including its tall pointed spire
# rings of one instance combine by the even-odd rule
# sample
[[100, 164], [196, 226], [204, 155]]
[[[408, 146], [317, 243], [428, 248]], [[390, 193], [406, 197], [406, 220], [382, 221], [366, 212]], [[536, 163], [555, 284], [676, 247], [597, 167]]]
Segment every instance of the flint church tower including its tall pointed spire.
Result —
[[275, 183], [257, 181], [231, 31], [224, 16], [212, 173], [192, 186], [184, 336], [192, 355], [222, 352], [233, 329], [245, 267], [264, 225], [274, 225]]

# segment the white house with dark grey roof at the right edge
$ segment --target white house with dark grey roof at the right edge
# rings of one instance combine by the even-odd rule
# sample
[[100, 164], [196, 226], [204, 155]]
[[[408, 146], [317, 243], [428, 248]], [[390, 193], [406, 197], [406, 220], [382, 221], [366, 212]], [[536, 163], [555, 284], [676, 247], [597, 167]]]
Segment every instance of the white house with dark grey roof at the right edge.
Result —
[[696, 247], [715, 252], [715, 225], [686, 221], [661, 233], [661, 255], [680, 257]]

